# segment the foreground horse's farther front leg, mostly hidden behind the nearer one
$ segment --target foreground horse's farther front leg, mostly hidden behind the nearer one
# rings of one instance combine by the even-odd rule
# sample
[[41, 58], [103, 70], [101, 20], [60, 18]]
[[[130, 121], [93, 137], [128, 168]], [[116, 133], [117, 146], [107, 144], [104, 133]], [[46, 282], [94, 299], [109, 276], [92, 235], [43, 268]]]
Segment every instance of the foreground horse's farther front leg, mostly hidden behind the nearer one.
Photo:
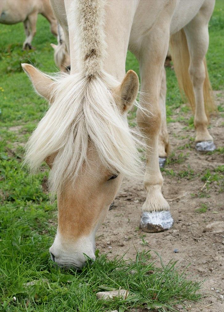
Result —
[[163, 168], [166, 163], [169, 149], [169, 134], [166, 125], [166, 70], [163, 69], [162, 83], [160, 88], [161, 129], [159, 134], [159, 164]]

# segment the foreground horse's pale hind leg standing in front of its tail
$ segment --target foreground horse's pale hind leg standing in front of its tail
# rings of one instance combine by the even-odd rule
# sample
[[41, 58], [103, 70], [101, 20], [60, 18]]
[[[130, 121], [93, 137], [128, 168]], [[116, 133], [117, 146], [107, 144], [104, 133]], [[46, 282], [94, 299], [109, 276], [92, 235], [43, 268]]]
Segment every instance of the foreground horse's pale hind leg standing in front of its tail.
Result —
[[208, 119], [205, 112], [203, 85], [206, 77], [204, 58], [208, 49], [208, 22], [213, 11], [214, 3], [209, 1], [201, 8], [196, 17], [184, 27], [188, 50], [190, 54], [189, 74], [193, 84], [195, 97], [194, 125], [196, 128], [196, 149], [212, 151], [215, 144], [209, 134]]

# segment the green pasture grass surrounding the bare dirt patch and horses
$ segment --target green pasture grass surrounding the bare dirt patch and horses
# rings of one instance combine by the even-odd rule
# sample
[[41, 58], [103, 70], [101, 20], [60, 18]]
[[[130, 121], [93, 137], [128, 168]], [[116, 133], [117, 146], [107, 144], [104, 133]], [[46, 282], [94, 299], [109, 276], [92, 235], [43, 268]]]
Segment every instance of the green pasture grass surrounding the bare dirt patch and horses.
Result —
[[[41, 35], [40, 35], [41, 30]], [[223, 87], [223, 2], [217, 1], [210, 21], [210, 46], [207, 54], [208, 70], [212, 87]], [[55, 268], [49, 259], [48, 249], [56, 233], [56, 203], [50, 205], [41, 183], [48, 170], [30, 177], [21, 168], [23, 145], [37, 121], [43, 115], [46, 103], [31, 90], [31, 83], [22, 72], [20, 63], [30, 62], [45, 72], [55, 72], [51, 42], [55, 37], [49, 31], [49, 24], [38, 17], [37, 34], [32, 44], [33, 51], [22, 51], [25, 35], [23, 25], [2, 25], [0, 27], [0, 101], [1, 101], [1, 255], [0, 289], [1, 310], [4, 311], [129, 311], [131, 307], [159, 311], [172, 310], [175, 303], [200, 298], [200, 283], [186, 279], [176, 264], [155, 266], [149, 252], [136, 256], [135, 261], [123, 258], [108, 260], [106, 255], [98, 256], [93, 265], [82, 272], [63, 271]], [[126, 69], [139, 74], [138, 62], [128, 52]], [[174, 71], [167, 71], [167, 120], [172, 121], [174, 110], [181, 107], [184, 115], [188, 108], [181, 100]], [[223, 110], [222, 106], [219, 108]], [[135, 111], [130, 114], [130, 123]], [[182, 118], [185, 126], [192, 126], [192, 119]], [[20, 126], [12, 131], [10, 127]], [[184, 146], [184, 148], [190, 147]], [[216, 153], [223, 153], [219, 149]], [[188, 154], [174, 154], [169, 164], [186, 161]], [[206, 171], [201, 175], [207, 187], [215, 181], [220, 183], [221, 171]], [[177, 175], [180, 179], [194, 177], [191, 168], [176, 173], [164, 169], [164, 174]], [[220, 189], [222, 186], [220, 185]], [[207, 188], [206, 188], [207, 190]], [[201, 197], [209, 194], [201, 193]], [[147, 241], [142, 236], [142, 244]], [[134, 273], [133, 273], [134, 272]], [[133, 274], [132, 274], [133, 273]], [[34, 282], [34, 285], [26, 286]], [[96, 292], [102, 286], [128, 289], [126, 300], [98, 301]], [[13, 296], [17, 299], [13, 300]]]

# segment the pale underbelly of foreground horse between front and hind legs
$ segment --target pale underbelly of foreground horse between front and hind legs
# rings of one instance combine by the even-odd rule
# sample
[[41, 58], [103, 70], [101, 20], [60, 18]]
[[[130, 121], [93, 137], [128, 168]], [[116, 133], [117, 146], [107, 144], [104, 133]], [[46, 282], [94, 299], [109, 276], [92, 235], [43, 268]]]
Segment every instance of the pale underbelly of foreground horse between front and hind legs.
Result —
[[170, 24], [170, 34], [174, 34], [186, 26], [203, 5], [204, 0], [179, 0]]

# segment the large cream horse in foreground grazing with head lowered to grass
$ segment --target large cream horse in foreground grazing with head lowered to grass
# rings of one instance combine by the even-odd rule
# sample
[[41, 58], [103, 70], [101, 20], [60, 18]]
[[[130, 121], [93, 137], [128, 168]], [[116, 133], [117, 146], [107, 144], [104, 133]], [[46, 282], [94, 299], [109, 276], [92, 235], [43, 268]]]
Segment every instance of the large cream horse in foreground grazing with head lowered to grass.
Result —
[[183, 66], [181, 76], [191, 81], [188, 93], [195, 102], [196, 142], [211, 142], [203, 90], [208, 83], [204, 58], [214, 1], [51, 3], [64, 31], [71, 71], [61, 78], [50, 77], [22, 64], [36, 91], [50, 102], [29, 139], [25, 163], [36, 170], [45, 160], [51, 168], [50, 192], [57, 193], [58, 200], [51, 258], [59, 266], [80, 268], [86, 261], [83, 254], [95, 259], [95, 233], [122, 178], [142, 174], [138, 141], [126, 120], [139, 88], [136, 73], [125, 74], [127, 49], [136, 55], [141, 75], [137, 122], [146, 140], [147, 191], [141, 227], [146, 232], [172, 227], [158, 161], [159, 139], [165, 153], [168, 144], [164, 61], [171, 36], [177, 58], [187, 62], [181, 54], [186, 49], [189, 53], [189, 72]]

